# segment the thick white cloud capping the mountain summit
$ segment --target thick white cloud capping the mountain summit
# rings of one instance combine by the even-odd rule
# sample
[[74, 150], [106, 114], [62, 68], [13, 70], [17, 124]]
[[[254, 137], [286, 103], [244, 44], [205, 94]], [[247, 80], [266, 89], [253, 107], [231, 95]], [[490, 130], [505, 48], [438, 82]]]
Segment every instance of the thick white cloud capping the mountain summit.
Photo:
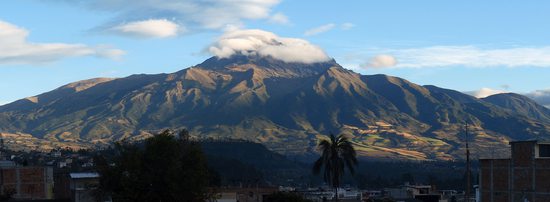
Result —
[[219, 58], [233, 54], [271, 56], [285, 62], [315, 63], [331, 58], [318, 46], [263, 30], [233, 30], [223, 34], [208, 51]]

